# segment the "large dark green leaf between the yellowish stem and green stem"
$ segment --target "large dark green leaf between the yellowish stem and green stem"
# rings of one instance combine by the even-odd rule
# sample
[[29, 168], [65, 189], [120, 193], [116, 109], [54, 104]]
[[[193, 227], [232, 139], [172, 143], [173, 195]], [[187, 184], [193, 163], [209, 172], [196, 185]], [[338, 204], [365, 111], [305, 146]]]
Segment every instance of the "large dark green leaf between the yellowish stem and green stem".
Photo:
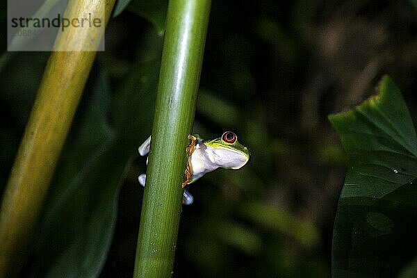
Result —
[[[111, 99], [106, 74], [85, 99], [58, 165], [31, 257], [31, 277], [97, 277], [111, 245], [117, 197], [151, 130], [158, 61], [133, 69]], [[111, 121], [111, 120], [112, 121]]]

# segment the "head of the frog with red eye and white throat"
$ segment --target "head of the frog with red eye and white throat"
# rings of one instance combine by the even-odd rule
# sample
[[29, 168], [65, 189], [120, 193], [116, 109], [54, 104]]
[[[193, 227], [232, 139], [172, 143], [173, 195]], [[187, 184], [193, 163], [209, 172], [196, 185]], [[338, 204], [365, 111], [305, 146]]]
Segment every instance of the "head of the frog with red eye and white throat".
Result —
[[249, 161], [249, 149], [240, 144], [238, 136], [231, 131], [224, 132], [220, 138], [204, 140], [204, 144], [212, 149], [215, 163], [220, 167], [239, 169]]

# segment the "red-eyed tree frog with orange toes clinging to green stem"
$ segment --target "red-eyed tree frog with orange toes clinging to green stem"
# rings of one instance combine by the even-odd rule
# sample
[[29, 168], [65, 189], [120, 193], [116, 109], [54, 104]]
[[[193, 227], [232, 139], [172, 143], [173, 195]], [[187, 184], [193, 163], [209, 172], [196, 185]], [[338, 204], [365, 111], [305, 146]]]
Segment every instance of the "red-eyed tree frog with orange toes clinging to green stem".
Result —
[[[189, 135], [188, 139], [191, 143], [186, 147], [188, 154], [187, 168], [184, 172], [186, 181], [182, 183], [182, 187], [197, 181], [204, 174], [214, 171], [219, 167], [225, 169], [240, 169], [250, 158], [250, 152], [247, 147], [238, 142], [238, 137], [231, 131], [223, 133], [222, 137], [215, 139], [202, 139], [198, 133]], [[141, 156], [149, 154], [151, 145], [151, 136], [138, 148]], [[145, 186], [146, 174], [141, 174], [138, 181]], [[184, 189], [183, 204], [192, 204], [193, 195]]]

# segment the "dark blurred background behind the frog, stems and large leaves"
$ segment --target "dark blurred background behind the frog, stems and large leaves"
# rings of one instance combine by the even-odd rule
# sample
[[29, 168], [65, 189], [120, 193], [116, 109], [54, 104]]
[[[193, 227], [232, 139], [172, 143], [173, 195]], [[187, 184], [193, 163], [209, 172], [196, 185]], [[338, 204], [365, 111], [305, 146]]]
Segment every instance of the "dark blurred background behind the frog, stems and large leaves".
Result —
[[[366, 99], [388, 74], [416, 120], [413, 3], [213, 1], [194, 131], [213, 138], [232, 130], [252, 158], [188, 187], [195, 204], [183, 207], [174, 277], [330, 277], [345, 156], [327, 115]], [[160, 49], [154, 26], [125, 10], [108, 24], [95, 67], [117, 88]], [[0, 74], [1, 186], [48, 56], [15, 54]], [[141, 172], [145, 158], [136, 158], [100, 277], [132, 275]]]

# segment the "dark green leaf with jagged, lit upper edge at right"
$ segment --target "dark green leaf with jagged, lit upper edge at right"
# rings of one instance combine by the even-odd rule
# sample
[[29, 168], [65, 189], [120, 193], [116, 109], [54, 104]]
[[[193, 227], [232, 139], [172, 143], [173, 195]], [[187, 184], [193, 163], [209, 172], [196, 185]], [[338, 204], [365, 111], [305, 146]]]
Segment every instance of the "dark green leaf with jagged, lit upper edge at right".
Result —
[[334, 224], [334, 277], [393, 277], [417, 254], [417, 138], [400, 90], [329, 116], [350, 160]]

